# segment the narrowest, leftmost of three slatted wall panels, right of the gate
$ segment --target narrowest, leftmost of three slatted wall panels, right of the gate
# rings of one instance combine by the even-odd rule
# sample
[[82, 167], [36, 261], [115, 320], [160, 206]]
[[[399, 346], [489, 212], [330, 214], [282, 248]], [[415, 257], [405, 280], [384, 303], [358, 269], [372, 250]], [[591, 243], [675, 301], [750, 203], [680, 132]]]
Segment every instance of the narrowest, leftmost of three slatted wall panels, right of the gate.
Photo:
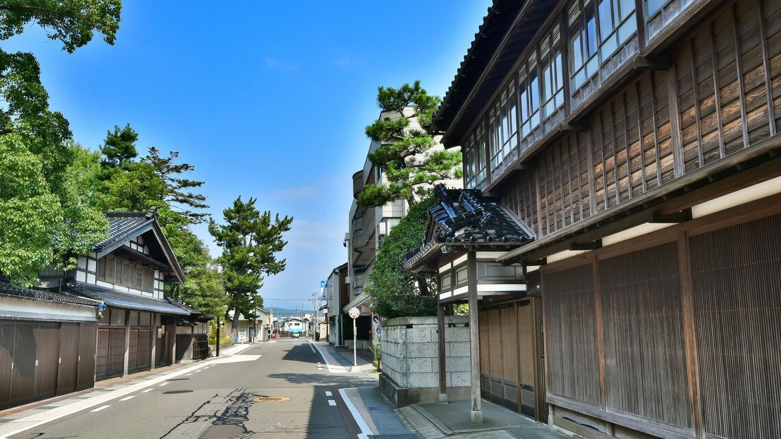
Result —
[[600, 403], [591, 265], [544, 273], [547, 391]]

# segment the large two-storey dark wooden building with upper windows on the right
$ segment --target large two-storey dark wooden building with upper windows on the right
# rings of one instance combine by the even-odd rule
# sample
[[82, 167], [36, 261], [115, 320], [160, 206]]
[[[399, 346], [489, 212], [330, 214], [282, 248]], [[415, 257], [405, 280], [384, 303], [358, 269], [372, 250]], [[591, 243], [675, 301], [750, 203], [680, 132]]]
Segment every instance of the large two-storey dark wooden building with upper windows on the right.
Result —
[[781, 2], [495, 0], [432, 130], [531, 230], [493, 260], [542, 348], [480, 300], [481, 373], [542, 362], [534, 416], [583, 437], [781, 436], [779, 117]]

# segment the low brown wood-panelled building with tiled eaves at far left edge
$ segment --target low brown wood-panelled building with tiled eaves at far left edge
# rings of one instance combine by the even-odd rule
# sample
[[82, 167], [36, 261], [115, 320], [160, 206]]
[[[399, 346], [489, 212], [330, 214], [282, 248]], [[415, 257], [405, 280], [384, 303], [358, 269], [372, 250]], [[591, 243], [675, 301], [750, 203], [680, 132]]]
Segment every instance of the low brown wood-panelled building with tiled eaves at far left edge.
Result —
[[95, 384], [102, 306], [59, 287], [24, 288], [0, 280], [0, 409]]

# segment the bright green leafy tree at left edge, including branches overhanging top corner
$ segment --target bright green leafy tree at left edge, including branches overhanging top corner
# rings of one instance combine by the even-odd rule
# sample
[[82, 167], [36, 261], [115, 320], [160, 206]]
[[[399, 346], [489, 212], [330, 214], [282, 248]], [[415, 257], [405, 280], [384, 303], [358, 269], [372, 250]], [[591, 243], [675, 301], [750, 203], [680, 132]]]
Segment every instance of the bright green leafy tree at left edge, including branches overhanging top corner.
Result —
[[[112, 44], [119, 0], [0, 2], [0, 40], [29, 24], [43, 27], [66, 52], [95, 32]], [[68, 172], [68, 122], [48, 106], [37, 60], [0, 48], [0, 267], [2, 276], [30, 285], [46, 266], [70, 266], [105, 236], [105, 218], [80, 195]]]

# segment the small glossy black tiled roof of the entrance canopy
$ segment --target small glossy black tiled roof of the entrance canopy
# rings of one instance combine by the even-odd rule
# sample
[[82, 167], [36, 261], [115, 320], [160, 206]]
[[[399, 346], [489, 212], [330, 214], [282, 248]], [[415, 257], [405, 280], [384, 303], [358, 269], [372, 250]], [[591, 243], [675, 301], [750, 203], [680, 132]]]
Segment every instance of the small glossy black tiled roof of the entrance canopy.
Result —
[[513, 219], [498, 204], [475, 190], [434, 188], [437, 205], [429, 208], [430, 224], [423, 247], [405, 254], [405, 268], [441, 244], [451, 246], [515, 246], [534, 240], [529, 227]]

